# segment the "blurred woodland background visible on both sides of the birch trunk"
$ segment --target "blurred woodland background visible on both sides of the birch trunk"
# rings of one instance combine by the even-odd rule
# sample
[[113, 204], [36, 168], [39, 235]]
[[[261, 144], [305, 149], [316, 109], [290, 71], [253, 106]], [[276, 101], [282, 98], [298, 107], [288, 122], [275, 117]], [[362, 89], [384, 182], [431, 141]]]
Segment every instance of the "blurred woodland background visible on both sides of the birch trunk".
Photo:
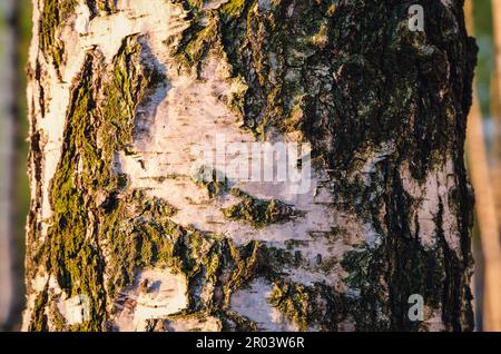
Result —
[[[477, 191], [477, 331], [501, 331], [501, 0], [466, 0], [465, 14], [480, 48], [465, 156]], [[31, 0], [0, 0], [0, 331], [20, 328], [24, 302], [30, 37]]]

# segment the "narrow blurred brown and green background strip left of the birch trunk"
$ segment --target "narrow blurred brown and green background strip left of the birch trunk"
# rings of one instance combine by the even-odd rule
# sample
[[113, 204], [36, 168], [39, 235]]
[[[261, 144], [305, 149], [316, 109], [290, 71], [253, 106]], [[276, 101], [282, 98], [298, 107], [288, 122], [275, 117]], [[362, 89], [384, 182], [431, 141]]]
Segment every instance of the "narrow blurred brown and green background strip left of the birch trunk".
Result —
[[[26, 62], [31, 35], [30, 0], [3, 1], [2, 80], [3, 102], [0, 137], [1, 174], [1, 294], [0, 326], [19, 330], [23, 304], [24, 226], [29, 212], [27, 176]], [[4, 125], [3, 125], [4, 124]]]

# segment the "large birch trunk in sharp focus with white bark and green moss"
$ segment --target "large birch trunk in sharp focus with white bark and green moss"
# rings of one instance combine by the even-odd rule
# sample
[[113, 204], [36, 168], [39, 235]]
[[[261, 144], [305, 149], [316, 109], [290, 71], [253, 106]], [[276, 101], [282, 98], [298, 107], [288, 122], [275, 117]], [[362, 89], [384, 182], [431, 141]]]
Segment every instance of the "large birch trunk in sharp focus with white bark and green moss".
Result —
[[[471, 331], [477, 47], [414, 2], [33, 0], [24, 328]], [[197, 181], [217, 134], [310, 142], [311, 190]]]

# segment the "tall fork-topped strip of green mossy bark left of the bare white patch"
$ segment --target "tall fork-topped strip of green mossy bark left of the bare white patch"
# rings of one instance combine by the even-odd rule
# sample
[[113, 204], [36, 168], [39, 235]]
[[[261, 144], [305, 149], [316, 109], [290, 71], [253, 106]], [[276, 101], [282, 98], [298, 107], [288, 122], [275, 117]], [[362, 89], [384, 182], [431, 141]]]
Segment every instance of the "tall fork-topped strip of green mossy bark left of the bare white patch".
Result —
[[[43, 256], [62, 289], [89, 296], [91, 319], [80, 330], [101, 330], [106, 318], [101, 243], [124, 188], [122, 176], [112, 168], [114, 154], [132, 141], [136, 107], [151, 78], [140, 53], [137, 38], [127, 38], [105, 82], [96, 75], [102, 70], [99, 56], [88, 53], [71, 94], [61, 159], [50, 186], [53, 215]], [[98, 109], [100, 89], [107, 99]], [[146, 203], [146, 210], [155, 208], [167, 210], [156, 200]]]

